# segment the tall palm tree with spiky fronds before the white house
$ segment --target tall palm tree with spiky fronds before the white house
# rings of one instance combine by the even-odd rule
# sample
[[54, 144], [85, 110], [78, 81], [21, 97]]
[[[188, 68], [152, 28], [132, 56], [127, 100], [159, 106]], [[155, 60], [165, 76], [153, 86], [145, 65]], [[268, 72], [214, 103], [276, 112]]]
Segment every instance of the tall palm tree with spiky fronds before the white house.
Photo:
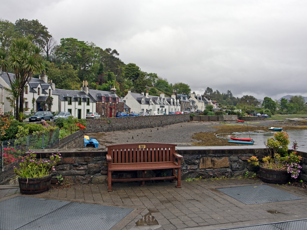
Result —
[[[25, 84], [29, 82], [33, 73], [43, 69], [43, 59], [41, 57], [42, 49], [32, 42], [33, 36], [27, 38], [12, 39], [12, 45], [8, 51], [0, 52], [0, 67], [6, 71], [12, 90], [17, 90], [16, 96], [16, 120], [19, 120], [19, 112], [23, 113], [24, 89]], [[10, 78], [8, 69], [12, 69], [15, 75], [14, 79]], [[16, 85], [17, 84], [17, 85]]]

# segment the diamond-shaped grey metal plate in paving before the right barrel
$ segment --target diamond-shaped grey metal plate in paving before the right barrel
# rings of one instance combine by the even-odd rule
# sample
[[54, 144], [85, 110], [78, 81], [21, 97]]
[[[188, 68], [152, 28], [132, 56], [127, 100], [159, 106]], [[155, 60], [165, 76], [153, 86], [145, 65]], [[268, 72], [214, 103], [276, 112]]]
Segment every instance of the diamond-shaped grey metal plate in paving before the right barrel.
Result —
[[267, 185], [238, 186], [216, 190], [246, 205], [303, 199]]

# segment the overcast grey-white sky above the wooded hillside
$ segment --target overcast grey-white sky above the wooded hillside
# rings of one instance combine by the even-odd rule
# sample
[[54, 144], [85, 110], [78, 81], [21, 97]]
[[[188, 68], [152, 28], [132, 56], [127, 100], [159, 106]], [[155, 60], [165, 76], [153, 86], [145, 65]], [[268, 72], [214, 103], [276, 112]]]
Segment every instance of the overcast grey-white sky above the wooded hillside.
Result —
[[192, 92], [307, 96], [307, 1], [0, 0], [2, 19], [37, 19], [60, 42], [116, 49], [126, 64]]

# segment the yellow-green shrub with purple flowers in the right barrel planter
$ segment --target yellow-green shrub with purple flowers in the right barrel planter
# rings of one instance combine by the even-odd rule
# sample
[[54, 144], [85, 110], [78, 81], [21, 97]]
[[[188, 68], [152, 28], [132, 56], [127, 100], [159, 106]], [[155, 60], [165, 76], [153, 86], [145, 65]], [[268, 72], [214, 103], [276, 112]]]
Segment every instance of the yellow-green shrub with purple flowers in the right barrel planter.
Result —
[[301, 156], [296, 151], [288, 151], [289, 135], [287, 132], [276, 132], [274, 137], [268, 138], [266, 143], [268, 156], [262, 158], [262, 162], [256, 156], [251, 156], [248, 162], [251, 165], [259, 165], [268, 169], [287, 170], [291, 177], [297, 178], [302, 168], [299, 163]]

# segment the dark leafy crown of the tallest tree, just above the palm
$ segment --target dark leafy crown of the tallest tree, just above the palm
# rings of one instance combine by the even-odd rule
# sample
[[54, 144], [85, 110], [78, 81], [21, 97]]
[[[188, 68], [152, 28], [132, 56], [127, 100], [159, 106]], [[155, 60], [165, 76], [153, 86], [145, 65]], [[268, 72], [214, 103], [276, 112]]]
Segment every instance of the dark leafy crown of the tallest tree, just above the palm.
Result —
[[29, 21], [23, 18], [15, 22], [15, 30], [24, 36], [33, 35], [33, 43], [41, 48], [45, 48], [52, 37], [47, 29], [37, 19]]

